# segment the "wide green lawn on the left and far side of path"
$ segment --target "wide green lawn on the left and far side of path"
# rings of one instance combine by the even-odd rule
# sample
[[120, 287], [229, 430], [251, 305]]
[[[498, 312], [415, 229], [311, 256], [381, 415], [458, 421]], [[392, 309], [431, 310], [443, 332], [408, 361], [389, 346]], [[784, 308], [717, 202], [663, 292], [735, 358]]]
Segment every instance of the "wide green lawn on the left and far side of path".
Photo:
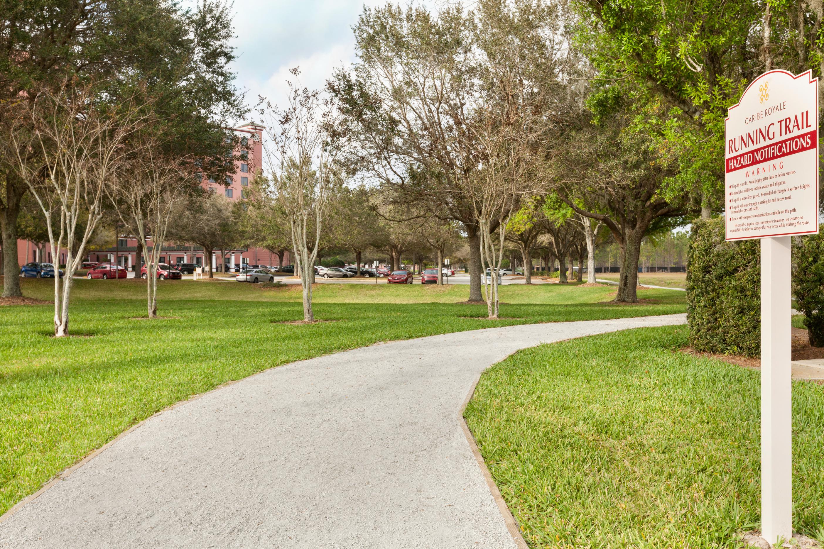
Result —
[[[48, 280], [23, 291], [48, 300]], [[319, 285], [319, 319], [302, 319], [299, 286], [159, 281], [159, 314], [145, 283], [74, 281], [70, 332], [54, 339], [52, 305], [0, 307], [0, 513], [54, 474], [152, 413], [232, 379], [375, 342], [517, 323], [612, 319], [685, 310], [684, 295], [643, 291], [638, 305], [602, 303], [611, 288], [503, 286], [501, 314], [459, 305], [468, 286]]]

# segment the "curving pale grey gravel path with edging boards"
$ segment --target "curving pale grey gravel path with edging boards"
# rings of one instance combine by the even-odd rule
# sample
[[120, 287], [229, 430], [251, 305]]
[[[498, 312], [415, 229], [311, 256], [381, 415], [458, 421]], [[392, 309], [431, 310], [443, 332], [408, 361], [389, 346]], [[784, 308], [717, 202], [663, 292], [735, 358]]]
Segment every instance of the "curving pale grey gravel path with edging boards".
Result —
[[2, 517], [0, 547], [512, 549], [461, 427], [480, 373], [542, 342], [685, 322], [487, 328], [266, 370], [121, 436]]

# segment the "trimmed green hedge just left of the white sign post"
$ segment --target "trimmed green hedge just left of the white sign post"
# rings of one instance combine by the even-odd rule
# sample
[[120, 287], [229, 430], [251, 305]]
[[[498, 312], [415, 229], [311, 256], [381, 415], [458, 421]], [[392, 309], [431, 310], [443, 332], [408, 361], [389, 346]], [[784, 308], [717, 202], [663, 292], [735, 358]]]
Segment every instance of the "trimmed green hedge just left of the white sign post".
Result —
[[686, 318], [697, 351], [760, 356], [761, 242], [724, 240], [723, 219], [692, 226]]

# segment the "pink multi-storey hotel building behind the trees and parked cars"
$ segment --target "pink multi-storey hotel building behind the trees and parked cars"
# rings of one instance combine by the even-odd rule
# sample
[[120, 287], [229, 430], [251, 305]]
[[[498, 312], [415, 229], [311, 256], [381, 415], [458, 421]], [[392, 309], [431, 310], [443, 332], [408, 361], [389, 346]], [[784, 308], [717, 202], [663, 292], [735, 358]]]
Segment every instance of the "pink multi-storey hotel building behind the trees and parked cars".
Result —
[[[243, 151], [237, 155], [235, 173], [226, 176], [226, 184], [218, 184], [214, 179], [204, 178], [202, 183], [203, 187], [214, 193], [223, 193], [226, 198], [230, 200], [246, 198], [246, 188], [249, 185], [252, 172], [262, 165], [263, 146], [260, 141], [263, 137], [263, 129], [262, 126], [255, 123], [245, 123], [238, 128], [232, 128], [232, 131], [241, 138], [241, 144], [245, 146], [243, 147]], [[87, 252], [87, 260], [101, 263], [117, 263], [132, 269], [136, 267], [135, 263], [137, 262], [138, 256], [137, 246], [137, 239], [119, 235], [115, 246]], [[213, 268], [218, 267], [219, 254], [220, 251], [218, 250], [212, 256]], [[65, 254], [61, 253], [59, 263], [63, 264], [65, 260]], [[161, 263], [170, 263], [172, 265], [175, 263], [197, 263], [203, 265], [204, 252], [199, 246], [165, 244], [160, 260]], [[45, 246], [41, 244], [39, 248], [37, 244], [29, 240], [17, 240], [17, 263], [25, 265], [31, 261], [55, 263], [52, 261], [51, 253], [49, 252], [49, 244], [45, 243]], [[145, 260], [143, 261], [145, 262]], [[283, 263], [288, 265], [290, 261], [291, 258], [287, 252], [287, 254], [283, 256]], [[226, 257], [223, 258], [223, 263], [226, 263], [232, 272], [236, 270], [235, 265], [279, 265], [278, 255], [262, 248], [227, 250]]]

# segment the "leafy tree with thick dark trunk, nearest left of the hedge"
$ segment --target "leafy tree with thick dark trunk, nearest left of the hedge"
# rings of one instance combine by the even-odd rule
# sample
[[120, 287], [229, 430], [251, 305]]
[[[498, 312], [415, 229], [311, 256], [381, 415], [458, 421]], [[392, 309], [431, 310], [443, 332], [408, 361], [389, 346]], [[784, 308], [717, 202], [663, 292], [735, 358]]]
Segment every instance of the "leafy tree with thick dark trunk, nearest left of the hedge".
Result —
[[590, 104], [592, 120], [569, 133], [555, 151], [553, 177], [558, 197], [580, 216], [602, 222], [620, 249], [620, 279], [616, 301], [638, 300], [638, 262], [644, 236], [660, 226], [681, 222], [689, 193], [666, 193], [677, 172], [657, 147], [658, 136], [638, 131], [638, 119], [648, 114], [646, 96], [633, 86], [625, 95]]

